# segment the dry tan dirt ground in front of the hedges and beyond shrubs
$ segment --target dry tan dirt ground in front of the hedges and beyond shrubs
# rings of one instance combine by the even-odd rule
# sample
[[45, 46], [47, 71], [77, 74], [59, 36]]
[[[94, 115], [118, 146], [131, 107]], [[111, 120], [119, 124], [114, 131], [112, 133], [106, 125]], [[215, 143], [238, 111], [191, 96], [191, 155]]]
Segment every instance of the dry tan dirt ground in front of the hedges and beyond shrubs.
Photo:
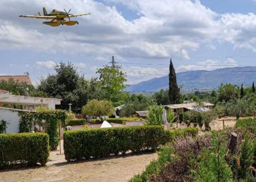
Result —
[[[211, 123], [212, 130], [235, 125], [235, 118], [226, 117]], [[128, 181], [157, 159], [156, 153], [107, 157], [89, 161], [67, 162], [61, 151], [50, 152], [45, 167], [0, 170], [0, 181]]]

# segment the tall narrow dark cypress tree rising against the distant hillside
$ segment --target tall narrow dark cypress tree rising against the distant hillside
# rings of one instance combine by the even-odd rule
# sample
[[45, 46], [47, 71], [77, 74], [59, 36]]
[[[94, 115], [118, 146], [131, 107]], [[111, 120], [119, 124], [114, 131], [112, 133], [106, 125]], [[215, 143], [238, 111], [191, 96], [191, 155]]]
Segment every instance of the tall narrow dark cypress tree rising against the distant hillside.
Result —
[[169, 102], [170, 104], [180, 103], [180, 88], [177, 85], [175, 68], [171, 59], [169, 66]]

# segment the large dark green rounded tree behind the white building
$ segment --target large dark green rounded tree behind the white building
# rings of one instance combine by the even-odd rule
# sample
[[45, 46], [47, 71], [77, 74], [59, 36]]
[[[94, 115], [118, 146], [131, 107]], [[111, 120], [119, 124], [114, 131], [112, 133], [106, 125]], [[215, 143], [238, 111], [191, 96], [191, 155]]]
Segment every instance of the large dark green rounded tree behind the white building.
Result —
[[54, 66], [56, 74], [42, 78], [37, 89], [49, 97], [62, 99], [61, 105], [57, 108], [69, 110], [69, 103], [72, 104], [72, 111], [81, 112], [81, 106], [90, 99], [90, 82], [84, 76], [79, 76], [76, 66], [72, 63], [59, 63]]

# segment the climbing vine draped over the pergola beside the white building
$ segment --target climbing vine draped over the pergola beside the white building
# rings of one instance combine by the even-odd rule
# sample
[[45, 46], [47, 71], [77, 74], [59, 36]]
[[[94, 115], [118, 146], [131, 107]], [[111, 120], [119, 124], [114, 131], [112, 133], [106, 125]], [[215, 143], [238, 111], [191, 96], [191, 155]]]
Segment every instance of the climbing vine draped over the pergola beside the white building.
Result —
[[65, 123], [66, 112], [64, 110], [21, 111], [19, 112], [19, 116], [19, 132], [31, 132], [33, 123], [41, 125], [42, 121], [45, 120], [47, 123], [47, 134], [49, 135], [50, 150], [57, 149], [59, 143], [58, 122]]

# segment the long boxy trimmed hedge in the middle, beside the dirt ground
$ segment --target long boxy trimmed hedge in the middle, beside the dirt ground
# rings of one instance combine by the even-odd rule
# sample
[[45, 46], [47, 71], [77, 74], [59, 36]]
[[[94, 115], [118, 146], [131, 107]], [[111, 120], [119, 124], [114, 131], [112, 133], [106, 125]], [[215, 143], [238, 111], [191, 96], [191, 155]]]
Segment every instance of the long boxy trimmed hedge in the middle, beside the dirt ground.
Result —
[[66, 131], [63, 134], [67, 161], [155, 150], [164, 144], [162, 126], [131, 126]]

